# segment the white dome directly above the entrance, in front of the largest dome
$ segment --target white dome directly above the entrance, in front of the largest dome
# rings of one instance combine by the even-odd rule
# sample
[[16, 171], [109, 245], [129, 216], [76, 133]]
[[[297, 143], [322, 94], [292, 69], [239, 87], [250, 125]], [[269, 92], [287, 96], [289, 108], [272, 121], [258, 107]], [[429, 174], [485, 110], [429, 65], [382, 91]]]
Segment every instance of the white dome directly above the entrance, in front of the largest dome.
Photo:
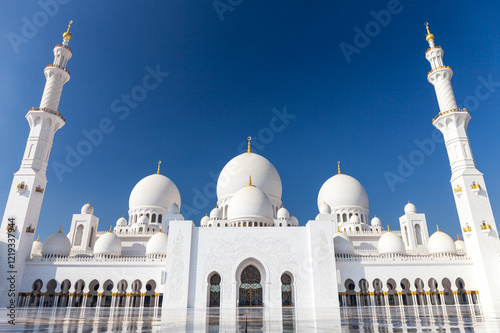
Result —
[[228, 220], [273, 219], [273, 206], [269, 197], [258, 187], [248, 185], [236, 192], [229, 202]]

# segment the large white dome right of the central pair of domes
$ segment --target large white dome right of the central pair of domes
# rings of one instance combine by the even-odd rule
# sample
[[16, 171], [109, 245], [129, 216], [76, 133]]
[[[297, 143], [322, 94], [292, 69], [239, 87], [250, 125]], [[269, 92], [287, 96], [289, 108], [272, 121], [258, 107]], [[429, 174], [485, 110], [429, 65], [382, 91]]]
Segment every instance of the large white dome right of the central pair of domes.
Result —
[[337, 174], [328, 179], [318, 194], [318, 209], [327, 203], [335, 210], [344, 207], [361, 207], [368, 209], [368, 194], [365, 188], [355, 178]]

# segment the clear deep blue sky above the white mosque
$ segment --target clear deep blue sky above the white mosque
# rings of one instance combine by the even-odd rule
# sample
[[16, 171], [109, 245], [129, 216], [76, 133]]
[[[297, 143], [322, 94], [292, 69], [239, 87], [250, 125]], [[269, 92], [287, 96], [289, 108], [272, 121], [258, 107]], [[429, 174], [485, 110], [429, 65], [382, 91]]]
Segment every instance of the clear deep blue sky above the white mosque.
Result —
[[[0, 12], [2, 214], [29, 133], [24, 116], [39, 106], [43, 69], [74, 20], [71, 80], [59, 105], [67, 121], [49, 161], [42, 240], [60, 225], [69, 231], [72, 214], [87, 201], [107, 230], [127, 216], [130, 191], [158, 160], [180, 190], [182, 213], [199, 224], [216, 203], [214, 177], [249, 135], [280, 173], [283, 203], [301, 225], [316, 216], [318, 191], [340, 160], [343, 173], [366, 188], [371, 217], [399, 229], [411, 200], [431, 233], [439, 224], [455, 237], [460, 226], [444, 144], [424, 154], [416, 143], [432, 140], [439, 111], [426, 80], [426, 21], [454, 70], [459, 106], [469, 106], [472, 151], [500, 214], [500, 87], [483, 83], [500, 81], [498, 1], [60, 0], [57, 8], [44, 1], [52, 5], [2, 1]], [[390, 22], [385, 16], [384, 26], [374, 24], [374, 13], [388, 8]], [[356, 46], [356, 27], [375, 30], [348, 62], [340, 45]], [[125, 115], [117, 109], [124, 103], [114, 101], [142, 86], [147, 68], [168, 76]], [[284, 109], [286, 124], [273, 120]], [[113, 131], [71, 173], [58, 175], [54, 162], [65, 164], [68, 149], [103, 119]], [[411, 154], [424, 158], [391, 188], [387, 174], [399, 175]]]

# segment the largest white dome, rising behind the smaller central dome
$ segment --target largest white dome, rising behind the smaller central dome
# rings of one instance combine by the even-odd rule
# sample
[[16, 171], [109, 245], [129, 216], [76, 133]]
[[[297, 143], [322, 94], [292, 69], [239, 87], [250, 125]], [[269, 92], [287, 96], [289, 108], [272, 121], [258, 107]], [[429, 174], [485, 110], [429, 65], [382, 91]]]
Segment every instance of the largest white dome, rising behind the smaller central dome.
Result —
[[281, 200], [281, 178], [278, 171], [265, 157], [254, 153], [238, 155], [224, 166], [217, 180], [217, 199], [233, 196], [247, 185], [250, 175], [254, 185], [269, 198]]

